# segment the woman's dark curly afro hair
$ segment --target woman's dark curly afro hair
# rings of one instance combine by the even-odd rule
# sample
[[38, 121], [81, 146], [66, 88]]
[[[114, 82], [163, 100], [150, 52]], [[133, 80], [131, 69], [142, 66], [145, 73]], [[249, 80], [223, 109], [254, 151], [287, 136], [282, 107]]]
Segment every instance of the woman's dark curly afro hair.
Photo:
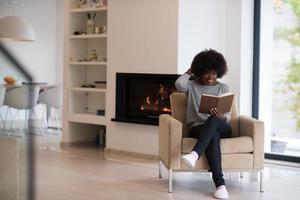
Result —
[[217, 72], [217, 78], [222, 78], [227, 72], [227, 63], [221, 53], [213, 49], [205, 49], [195, 56], [191, 72], [200, 77], [210, 71]]

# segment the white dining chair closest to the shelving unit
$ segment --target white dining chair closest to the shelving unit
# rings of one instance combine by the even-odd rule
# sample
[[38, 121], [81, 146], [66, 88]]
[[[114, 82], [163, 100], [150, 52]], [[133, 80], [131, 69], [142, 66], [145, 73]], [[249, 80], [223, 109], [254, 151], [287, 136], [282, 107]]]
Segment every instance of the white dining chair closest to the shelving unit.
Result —
[[[51, 117], [51, 108], [58, 110], [55, 114], [55, 123], [57, 134], [60, 133], [60, 109], [62, 107], [62, 88], [60, 86], [51, 87], [42, 91], [39, 95], [38, 102], [47, 106], [47, 128], [49, 127], [49, 119]], [[52, 127], [51, 127], [52, 128]]]

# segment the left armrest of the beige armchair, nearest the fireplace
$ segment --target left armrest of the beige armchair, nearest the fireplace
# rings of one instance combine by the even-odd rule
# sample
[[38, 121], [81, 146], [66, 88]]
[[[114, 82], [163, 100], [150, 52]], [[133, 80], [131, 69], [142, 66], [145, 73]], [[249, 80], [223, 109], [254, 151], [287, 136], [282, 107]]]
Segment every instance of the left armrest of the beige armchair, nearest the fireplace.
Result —
[[159, 159], [169, 168], [180, 168], [182, 123], [169, 114], [159, 116]]

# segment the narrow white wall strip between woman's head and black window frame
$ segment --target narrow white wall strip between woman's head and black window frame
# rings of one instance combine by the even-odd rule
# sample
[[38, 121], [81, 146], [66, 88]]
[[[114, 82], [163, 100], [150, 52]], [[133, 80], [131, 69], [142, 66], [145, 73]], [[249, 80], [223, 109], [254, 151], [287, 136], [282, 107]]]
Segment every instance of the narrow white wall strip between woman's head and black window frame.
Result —
[[235, 93], [240, 114], [252, 114], [252, 55], [254, 0], [226, 1], [226, 50], [228, 74], [224, 82]]

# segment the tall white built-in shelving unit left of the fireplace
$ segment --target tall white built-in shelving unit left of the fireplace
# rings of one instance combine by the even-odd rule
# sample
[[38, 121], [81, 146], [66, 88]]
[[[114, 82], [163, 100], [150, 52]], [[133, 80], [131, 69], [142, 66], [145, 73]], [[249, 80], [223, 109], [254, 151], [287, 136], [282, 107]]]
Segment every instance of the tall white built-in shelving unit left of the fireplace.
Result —
[[[86, 132], [97, 134], [107, 121], [106, 89], [90, 85], [95, 85], [95, 81], [106, 81], [108, 9], [107, 6], [78, 8], [79, 0], [64, 1], [63, 138], [76, 136], [76, 141], [87, 141]], [[95, 15], [94, 24], [100, 28], [99, 33], [87, 34], [88, 15]], [[96, 61], [89, 58], [92, 50], [96, 51]]]

